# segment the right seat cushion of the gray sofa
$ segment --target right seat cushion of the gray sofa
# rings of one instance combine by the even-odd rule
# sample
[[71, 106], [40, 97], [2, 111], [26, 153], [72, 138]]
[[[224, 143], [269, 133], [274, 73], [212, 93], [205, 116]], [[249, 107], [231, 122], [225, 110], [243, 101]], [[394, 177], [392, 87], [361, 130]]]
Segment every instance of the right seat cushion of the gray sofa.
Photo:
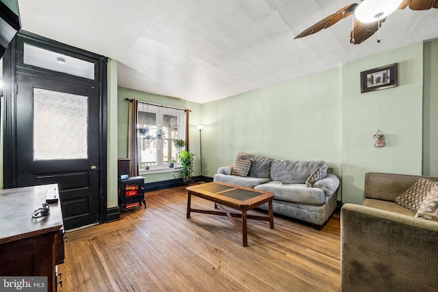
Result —
[[270, 191], [275, 195], [275, 200], [315, 205], [322, 205], [326, 202], [326, 195], [322, 189], [306, 187], [304, 184], [270, 181], [263, 183], [263, 185], [257, 185], [255, 189]]

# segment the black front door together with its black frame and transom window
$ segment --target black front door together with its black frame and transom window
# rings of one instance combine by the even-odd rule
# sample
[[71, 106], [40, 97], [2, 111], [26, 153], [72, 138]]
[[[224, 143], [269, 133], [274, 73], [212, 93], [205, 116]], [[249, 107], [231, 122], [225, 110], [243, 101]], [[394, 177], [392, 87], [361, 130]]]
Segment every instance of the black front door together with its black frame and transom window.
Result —
[[3, 61], [4, 187], [57, 183], [64, 229], [105, 222], [106, 58], [23, 31]]

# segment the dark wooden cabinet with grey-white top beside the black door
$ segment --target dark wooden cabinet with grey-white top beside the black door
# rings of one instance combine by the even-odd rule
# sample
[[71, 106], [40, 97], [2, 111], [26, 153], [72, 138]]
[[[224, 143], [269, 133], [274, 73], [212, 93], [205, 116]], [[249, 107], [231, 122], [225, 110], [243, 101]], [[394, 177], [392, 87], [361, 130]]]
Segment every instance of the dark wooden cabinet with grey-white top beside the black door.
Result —
[[32, 213], [54, 186], [0, 190], [0, 276], [47, 276], [47, 291], [55, 291], [55, 266], [64, 263], [61, 204], [49, 204], [45, 217]]

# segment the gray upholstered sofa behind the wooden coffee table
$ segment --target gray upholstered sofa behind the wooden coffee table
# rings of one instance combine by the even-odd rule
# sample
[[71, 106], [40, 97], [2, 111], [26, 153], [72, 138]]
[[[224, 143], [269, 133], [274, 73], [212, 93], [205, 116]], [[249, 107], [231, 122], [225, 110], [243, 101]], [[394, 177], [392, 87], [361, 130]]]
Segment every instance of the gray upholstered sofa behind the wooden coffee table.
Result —
[[[328, 168], [324, 161], [277, 160], [246, 152], [237, 153], [236, 159], [251, 161], [248, 175], [233, 175], [233, 165], [224, 166], [218, 169], [214, 181], [270, 191], [275, 195], [274, 213], [309, 222], [318, 230], [335, 211], [339, 177], [326, 173]], [[324, 172], [323, 178], [307, 187], [307, 178], [317, 168]], [[268, 210], [268, 204], [259, 208]]]

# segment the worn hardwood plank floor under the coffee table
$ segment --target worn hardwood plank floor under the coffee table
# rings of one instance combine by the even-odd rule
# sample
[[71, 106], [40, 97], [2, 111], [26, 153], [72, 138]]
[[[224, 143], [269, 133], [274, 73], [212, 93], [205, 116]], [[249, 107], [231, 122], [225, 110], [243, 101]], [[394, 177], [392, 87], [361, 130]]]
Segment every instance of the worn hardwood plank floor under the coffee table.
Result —
[[[244, 248], [227, 217], [185, 217], [184, 187], [148, 193], [146, 204], [120, 221], [68, 233], [58, 291], [340, 290], [337, 214], [321, 231], [279, 216], [274, 229], [248, 220]], [[213, 206], [192, 196], [192, 208]]]

